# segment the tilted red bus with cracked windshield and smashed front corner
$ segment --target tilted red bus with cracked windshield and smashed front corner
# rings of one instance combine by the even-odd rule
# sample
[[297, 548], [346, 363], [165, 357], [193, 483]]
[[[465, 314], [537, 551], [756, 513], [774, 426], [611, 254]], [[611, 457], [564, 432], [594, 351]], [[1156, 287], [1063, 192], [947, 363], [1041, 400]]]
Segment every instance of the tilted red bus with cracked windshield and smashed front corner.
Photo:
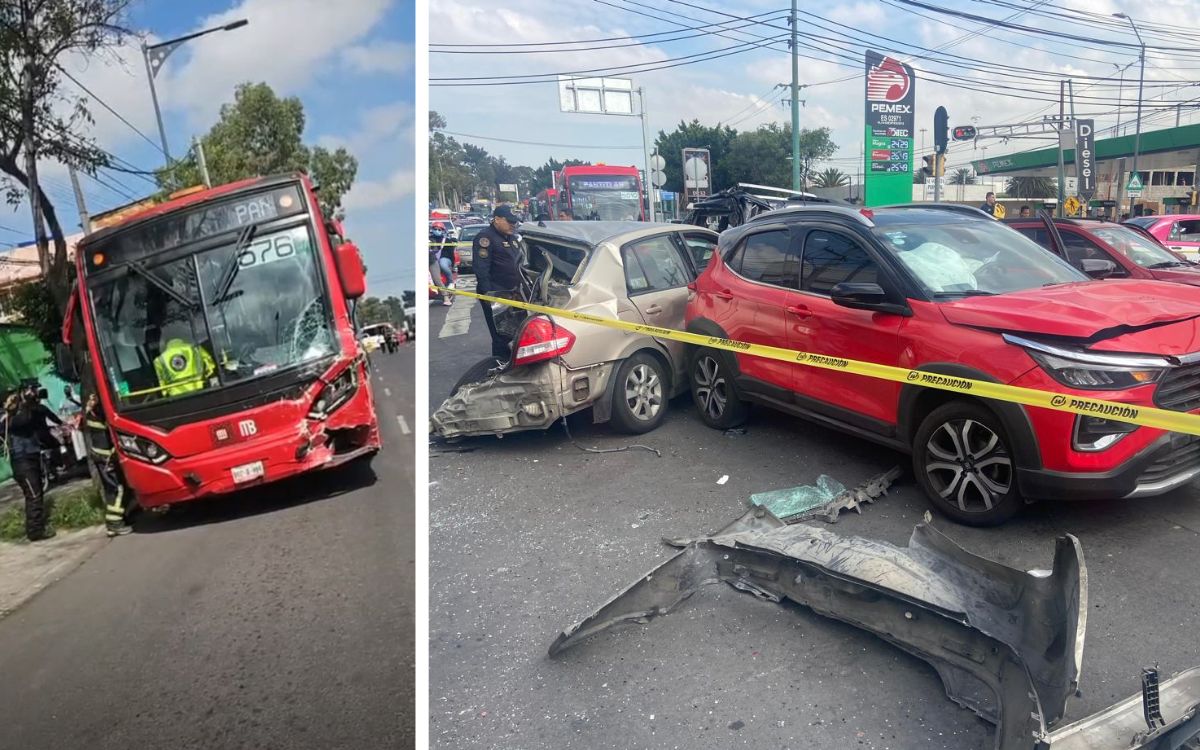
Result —
[[64, 340], [82, 328], [125, 481], [154, 508], [380, 446], [352, 301], [358, 248], [308, 178], [223, 185], [85, 238]]

